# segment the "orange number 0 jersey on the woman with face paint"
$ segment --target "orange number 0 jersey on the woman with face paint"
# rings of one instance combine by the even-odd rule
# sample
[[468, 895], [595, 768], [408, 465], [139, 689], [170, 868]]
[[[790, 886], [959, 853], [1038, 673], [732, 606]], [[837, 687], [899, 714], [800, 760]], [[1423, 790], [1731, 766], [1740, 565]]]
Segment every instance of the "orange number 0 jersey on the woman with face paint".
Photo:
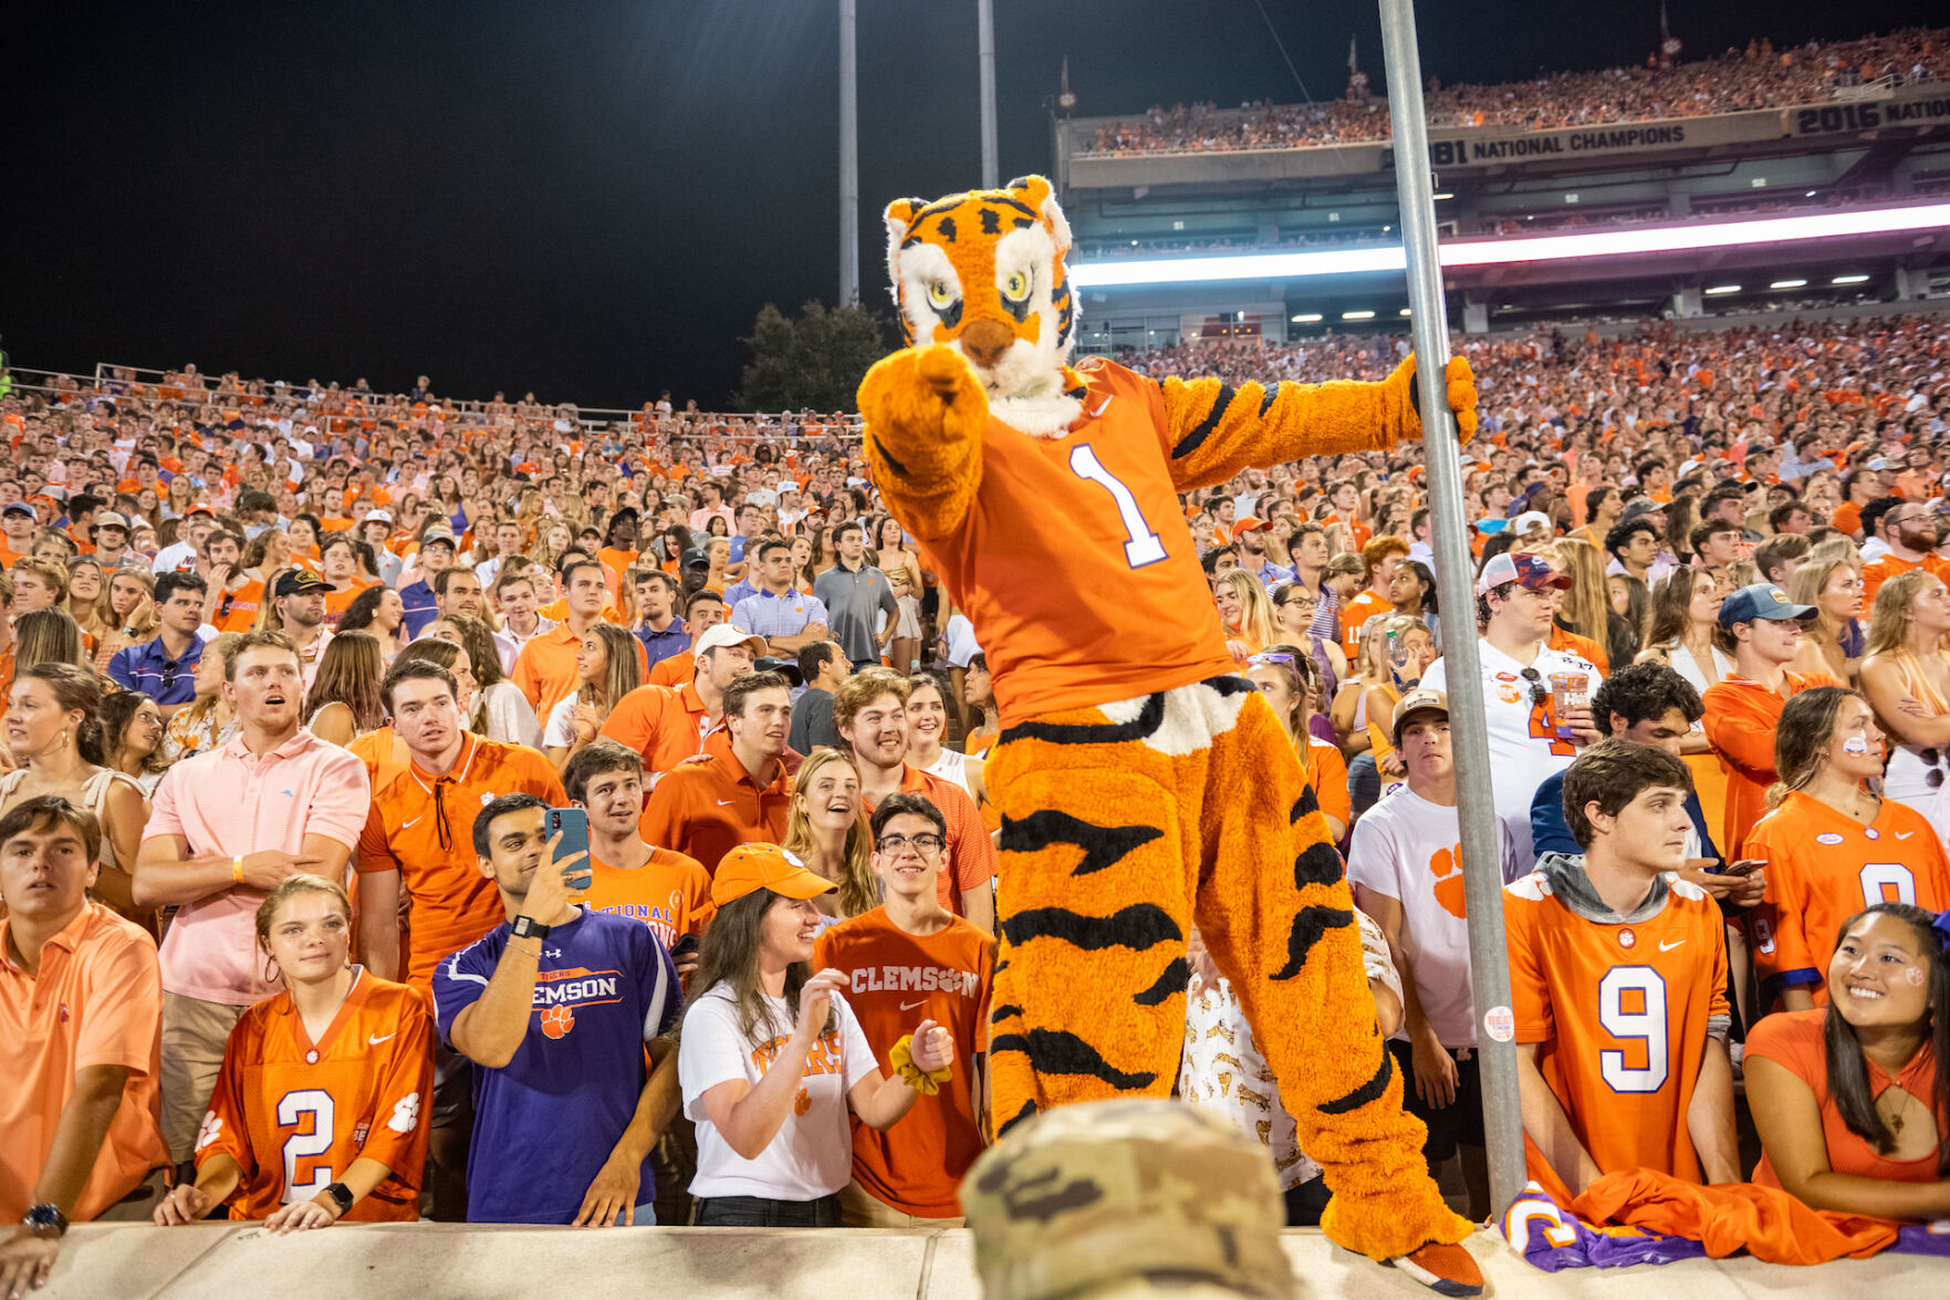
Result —
[[1864, 826], [1802, 791], [1755, 822], [1741, 857], [1767, 861], [1767, 894], [1747, 914], [1761, 988], [1808, 988], [1827, 1001], [1827, 964], [1841, 923], [1880, 902], [1950, 908], [1950, 859], [1929, 820], [1882, 800]]

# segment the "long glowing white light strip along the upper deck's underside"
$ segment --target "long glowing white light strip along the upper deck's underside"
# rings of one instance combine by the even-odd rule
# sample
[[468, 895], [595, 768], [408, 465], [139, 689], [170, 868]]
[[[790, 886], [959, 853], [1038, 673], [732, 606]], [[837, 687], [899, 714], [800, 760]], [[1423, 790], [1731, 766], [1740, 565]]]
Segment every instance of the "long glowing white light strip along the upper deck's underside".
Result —
[[[1743, 248], [1788, 240], [1819, 240], [1849, 234], [1892, 234], [1938, 230], [1950, 224], [1950, 203], [1862, 209], [1852, 213], [1810, 213], [1804, 217], [1761, 217], [1704, 226], [1642, 226], [1632, 230], [1583, 230], [1578, 234], [1527, 234], [1519, 238], [1478, 238], [1445, 242], [1445, 267], [1513, 265], [1525, 262], [1566, 262], [1574, 258], [1624, 258], [1632, 254], [1696, 252]], [[1322, 248], [1314, 252], [1238, 254], [1228, 258], [1168, 258], [1084, 262], [1071, 267], [1086, 289], [1133, 285], [1188, 285], [1230, 279], [1306, 279], [1314, 275], [1359, 275], [1404, 271], [1398, 246]]]

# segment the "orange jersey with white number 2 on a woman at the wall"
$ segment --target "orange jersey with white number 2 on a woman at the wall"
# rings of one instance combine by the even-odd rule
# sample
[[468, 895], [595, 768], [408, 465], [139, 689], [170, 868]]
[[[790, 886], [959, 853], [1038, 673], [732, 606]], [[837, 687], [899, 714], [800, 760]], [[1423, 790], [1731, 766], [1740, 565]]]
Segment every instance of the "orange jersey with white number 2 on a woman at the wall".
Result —
[[[230, 1031], [197, 1167], [228, 1156], [244, 1171], [230, 1218], [310, 1200], [359, 1158], [388, 1173], [347, 1222], [419, 1218], [419, 1169], [433, 1118], [433, 1017], [419, 994], [359, 970], [318, 1042], [291, 992], [265, 997]], [[289, 1181], [289, 1185], [287, 1185]]]

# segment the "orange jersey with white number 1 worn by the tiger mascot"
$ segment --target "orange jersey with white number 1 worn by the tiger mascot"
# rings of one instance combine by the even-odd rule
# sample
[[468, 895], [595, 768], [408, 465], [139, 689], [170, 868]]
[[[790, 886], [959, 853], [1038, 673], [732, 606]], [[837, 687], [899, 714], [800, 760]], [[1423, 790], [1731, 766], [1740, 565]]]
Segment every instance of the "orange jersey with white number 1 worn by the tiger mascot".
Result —
[[1236, 671], [1178, 509], [1164, 392], [1108, 361], [1080, 373], [1067, 435], [989, 420], [967, 517], [924, 548], [975, 625], [1002, 726]]

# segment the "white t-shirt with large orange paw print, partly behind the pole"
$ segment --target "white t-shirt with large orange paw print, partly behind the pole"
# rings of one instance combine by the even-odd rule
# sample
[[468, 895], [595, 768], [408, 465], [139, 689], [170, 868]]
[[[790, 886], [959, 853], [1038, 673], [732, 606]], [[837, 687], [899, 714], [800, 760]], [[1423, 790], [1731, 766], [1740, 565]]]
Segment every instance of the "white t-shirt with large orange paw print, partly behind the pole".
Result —
[[[1498, 853], [1505, 884], [1529, 874], [1531, 865], [1517, 863], [1502, 822]], [[1443, 1046], [1476, 1046], [1457, 810], [1431, 804], [1406, 785], [1396, 789], [1353, 824], [1347, 880], [1402, 904], [1402, 956], [1414, 968], [1422, 1015]], [[1406, 1021], [1394, 1036], [1408, 1040]]]

